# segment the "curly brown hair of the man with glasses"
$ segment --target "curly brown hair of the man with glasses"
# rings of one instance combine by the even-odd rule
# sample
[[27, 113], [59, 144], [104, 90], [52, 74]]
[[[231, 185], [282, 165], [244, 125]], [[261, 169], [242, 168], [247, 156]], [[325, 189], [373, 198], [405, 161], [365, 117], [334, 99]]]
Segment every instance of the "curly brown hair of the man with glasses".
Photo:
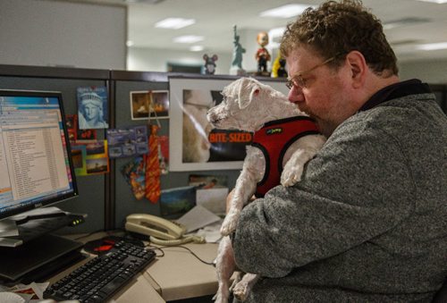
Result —
[[345, 55], [357, 50], [375, 74], [387, 77], [399, 72], [382, 22], [359, 0], [327, 1], [315, 9], [309, 7], [287, 26], [280, 52], [288, 56], [297, 46], [310, 46], [324, 58], [336, 56], [333, 66], [340, 66]]

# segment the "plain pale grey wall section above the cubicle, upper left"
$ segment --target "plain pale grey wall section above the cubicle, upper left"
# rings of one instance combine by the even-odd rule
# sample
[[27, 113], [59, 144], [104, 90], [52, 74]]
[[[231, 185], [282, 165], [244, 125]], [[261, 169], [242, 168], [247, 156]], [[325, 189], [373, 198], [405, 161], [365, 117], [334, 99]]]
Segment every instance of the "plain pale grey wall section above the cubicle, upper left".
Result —
[[0, 0], [0, 64], [125, 69], [127, 8]]

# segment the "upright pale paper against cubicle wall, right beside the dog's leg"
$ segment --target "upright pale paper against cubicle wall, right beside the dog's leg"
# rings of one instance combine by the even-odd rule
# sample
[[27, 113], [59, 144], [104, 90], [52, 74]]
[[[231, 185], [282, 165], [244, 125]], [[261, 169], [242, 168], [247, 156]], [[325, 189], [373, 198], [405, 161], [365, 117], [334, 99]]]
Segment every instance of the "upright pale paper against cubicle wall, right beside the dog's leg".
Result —
[[224, 215], [228, 188], [198, 189], [196, 204], [204, 206], [215, 215]]

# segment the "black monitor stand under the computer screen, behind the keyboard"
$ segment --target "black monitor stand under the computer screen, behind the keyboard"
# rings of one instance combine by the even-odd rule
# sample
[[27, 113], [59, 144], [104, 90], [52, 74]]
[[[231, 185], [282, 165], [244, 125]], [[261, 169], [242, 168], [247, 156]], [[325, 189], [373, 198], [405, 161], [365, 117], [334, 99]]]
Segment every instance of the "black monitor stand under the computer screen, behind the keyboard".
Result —
[[83, 243], [51, 232], [82, 223], [84, 217], [65, 213], [18, 223], [18, 236], [0, 238], [1, 282], [38, 282], [80, 260]]

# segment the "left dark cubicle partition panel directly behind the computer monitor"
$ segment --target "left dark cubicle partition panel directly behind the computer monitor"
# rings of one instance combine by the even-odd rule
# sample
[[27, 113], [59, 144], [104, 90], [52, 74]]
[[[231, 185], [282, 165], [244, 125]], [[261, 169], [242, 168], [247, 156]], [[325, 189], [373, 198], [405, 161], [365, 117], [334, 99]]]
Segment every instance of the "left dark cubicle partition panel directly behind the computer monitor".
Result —
[[[0, 88], [61, 91], [65, 114], [77, 114], [76, 88], [108, 86], [109, 71], [0, 65]], [[97, 132], [104, 139], [104, 131]], [[79, 177], [80, 196], [60, 203], [65, 211], [87, 214], [86, 223], [67, 232], [104, 229], [108, 175]]]

